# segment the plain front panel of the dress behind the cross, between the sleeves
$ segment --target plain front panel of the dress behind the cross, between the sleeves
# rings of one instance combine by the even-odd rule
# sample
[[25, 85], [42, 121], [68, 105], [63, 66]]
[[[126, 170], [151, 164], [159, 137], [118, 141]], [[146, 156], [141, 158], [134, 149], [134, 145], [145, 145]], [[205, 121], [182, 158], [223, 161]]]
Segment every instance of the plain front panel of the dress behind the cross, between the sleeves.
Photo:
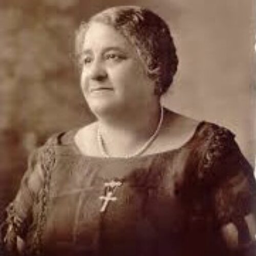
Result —
[[[131, 162], [59, 158], [42, 234], [47, 255], [162, 255], [156, 250], [183, 248], [190, 218], [182, 196], [184, 155]], [[119, 185], [106, 186], [113, 181]]]

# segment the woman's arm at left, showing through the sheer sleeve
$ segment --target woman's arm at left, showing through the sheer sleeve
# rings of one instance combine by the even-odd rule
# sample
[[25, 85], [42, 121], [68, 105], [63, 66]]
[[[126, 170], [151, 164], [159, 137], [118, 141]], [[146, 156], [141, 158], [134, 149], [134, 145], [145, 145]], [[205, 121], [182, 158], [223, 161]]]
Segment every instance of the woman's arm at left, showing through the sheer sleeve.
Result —
[[32, 218], [32, 205], [42, 186], [44, 175], [38, 161], [38, 150], [34, 151], [28, 161], [15, 199], [6, 209], [6, 219], [2, 224], [1, 237], [4, 249], [11, 255], [23, 248], [23, 239]]

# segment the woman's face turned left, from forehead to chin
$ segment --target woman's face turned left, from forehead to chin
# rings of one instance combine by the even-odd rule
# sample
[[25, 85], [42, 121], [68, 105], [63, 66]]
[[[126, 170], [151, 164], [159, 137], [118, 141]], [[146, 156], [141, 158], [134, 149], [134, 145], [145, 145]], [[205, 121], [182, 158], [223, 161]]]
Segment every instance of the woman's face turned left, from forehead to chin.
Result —
[[96, 115], [134, 115], [155, 99], [154, 82], [135, 48], [111, 26], [89, 25], [81, 60], [82, 92]]

